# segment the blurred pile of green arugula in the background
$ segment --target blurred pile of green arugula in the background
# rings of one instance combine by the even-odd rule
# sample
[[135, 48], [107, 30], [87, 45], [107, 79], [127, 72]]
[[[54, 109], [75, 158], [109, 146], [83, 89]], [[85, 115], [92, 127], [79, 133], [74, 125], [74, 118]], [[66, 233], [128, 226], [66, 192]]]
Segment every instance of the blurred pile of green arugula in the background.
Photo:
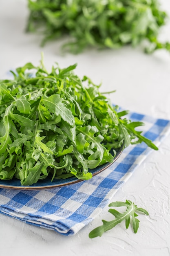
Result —
[[146, 52], [170, 51], [170, 43], [157, 39], [167, 14], [158, 0], [28, 0], [27, 31], [41, 31], [42, 45], [69, 36], [64, 49], [72, 53], [86, 47], [118, 48], [146, 41]]

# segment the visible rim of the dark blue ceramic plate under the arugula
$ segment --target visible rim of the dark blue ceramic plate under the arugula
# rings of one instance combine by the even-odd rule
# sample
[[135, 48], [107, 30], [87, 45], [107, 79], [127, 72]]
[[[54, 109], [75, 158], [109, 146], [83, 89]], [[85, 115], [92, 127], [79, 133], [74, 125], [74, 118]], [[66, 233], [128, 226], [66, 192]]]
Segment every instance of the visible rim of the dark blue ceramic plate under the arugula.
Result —
[[[121, 155], [123, 151], [124, 145], [117, 151], [117, 154], [114, 158], [114, 162], [117, 158]], [[93, 176], [101, 173], [106, 168], [108, 168], [113, 163], [106, 163], [101, 166], [96, 167], [95, 169], [89, 170]], [[37, 183], [32, 184], [31, 186], [21, 186], [20, 180], [13, 179], [13, 180], [0, 180], [0, 188], [2, 189], [17, 189], [17, 190], [42, 190], [42, 189], [54, 189], [60, 188], [62, 186], [69, 186], [75, 184], [77, 182], [83, 182], [84, 180], [79, 180], [75, 177], [69, 177], [67, 179], [54, 179], [51, 182], [50, 177], [46, 178], [45, 180], [39, 180]]]

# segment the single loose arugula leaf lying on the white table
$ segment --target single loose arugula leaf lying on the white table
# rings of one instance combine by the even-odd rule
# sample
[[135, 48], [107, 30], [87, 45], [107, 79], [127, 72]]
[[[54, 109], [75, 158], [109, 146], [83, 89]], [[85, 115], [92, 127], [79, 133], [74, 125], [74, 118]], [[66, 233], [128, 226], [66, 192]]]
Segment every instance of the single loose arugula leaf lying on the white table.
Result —
[[136, 218], [138, 216], [136, 211], [139, 211], [146, 215], [149, 215], [148, 211], [146, 211], [143, 208], [138, 208], [130, 200], [126, 200], [126, 202], [112, 202], [109, 204], [109, 207], [126, 207], [126, 211], [124, 211], [123, 213], [120, 213], [120, 212], [116, 211], [115, 209], [109, 209], [108, 212], [113, 214], [115, 216], [115, 219], [111, 220], [111, 221], [102, 220], [103, 225], [93, 229], [89, 233], [89, 238], [102, 236], [102, 234], [104, 232], [112, 229], [113, 227], [115, 227], [118, 223], [122, 222], [123, 220], [125, 220], [126, 229], [128, 229], [129, 224], [130, 224], [130, 218], [132, 220], [133, 231], [135, 233], [137, 233], [140, 221]]

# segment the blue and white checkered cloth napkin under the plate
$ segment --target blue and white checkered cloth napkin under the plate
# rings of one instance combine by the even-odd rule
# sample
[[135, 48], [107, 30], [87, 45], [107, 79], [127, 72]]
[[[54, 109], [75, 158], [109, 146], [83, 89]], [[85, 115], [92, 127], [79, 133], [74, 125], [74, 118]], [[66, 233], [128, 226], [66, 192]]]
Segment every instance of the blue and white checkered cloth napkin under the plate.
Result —
[[[170, 130], [167, 120], [137, 113], [128, 118], [144, 121], [144, 135], [157, 146]], [[151, 151], [144, 143], [129, 146], [105, 171], [71, 186], [41, 191], [0, 189], [0, 212], [64, 235], [74, 235], [102, 211]]]

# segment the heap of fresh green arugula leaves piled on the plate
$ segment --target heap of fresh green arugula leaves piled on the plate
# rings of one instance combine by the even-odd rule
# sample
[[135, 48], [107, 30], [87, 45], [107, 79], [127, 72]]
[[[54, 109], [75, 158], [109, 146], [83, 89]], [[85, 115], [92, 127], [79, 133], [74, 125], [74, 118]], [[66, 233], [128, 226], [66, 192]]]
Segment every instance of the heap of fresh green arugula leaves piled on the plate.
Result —
[[88, 180], [89, 169], [112, 163], [123, 146], [144, 141], [158, 149], [135, 130], [143, 123], [122, 118], [127, 111], [118, 112], [75, 67], [47, 72], [43, 61], [27, 63], [0, 81], [0, 179], [25, 186], [46, 177]]

